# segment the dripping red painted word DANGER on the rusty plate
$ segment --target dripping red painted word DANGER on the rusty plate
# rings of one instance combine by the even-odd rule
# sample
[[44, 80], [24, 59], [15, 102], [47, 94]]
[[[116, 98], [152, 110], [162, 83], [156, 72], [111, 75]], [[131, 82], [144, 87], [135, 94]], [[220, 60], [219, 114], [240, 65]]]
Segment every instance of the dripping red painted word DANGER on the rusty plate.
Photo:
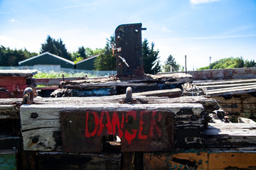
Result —
[[131, 144], [139, 140], [161, 137], [161, 112], [159, 111], [87, 111], [85, 137], [118, 135]]

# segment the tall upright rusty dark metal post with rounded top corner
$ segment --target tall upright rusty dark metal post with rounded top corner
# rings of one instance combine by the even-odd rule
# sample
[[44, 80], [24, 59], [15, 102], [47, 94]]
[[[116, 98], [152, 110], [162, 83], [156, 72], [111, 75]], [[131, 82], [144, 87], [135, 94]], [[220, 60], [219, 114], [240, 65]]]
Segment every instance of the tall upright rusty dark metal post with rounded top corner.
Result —
[[115, 30], [117, 77], [143, 77], [142, 23], [120, 25]]

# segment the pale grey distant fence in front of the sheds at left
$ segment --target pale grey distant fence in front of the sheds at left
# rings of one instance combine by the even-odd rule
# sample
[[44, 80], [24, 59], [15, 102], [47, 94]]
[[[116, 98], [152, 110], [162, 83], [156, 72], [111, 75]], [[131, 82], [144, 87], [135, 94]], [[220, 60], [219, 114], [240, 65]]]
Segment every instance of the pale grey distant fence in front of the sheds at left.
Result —
[[[0, 67], [0, 69], [37, 69], [40, 72], [51, 72], [50, 70], [45, 70], [42, 67], [35, 68], [33, 66], [17, 66], [17, 67]], [[110, 76], [111, 74], [117, 74], [117, 71], [92, 71], [92, 70], [85, 70], [85, 69], [66, 69], [60, 68], [60, 72], [67, 72], [71, 74], [82, 73], [87, 74], [90, 77], [105, 77]]]

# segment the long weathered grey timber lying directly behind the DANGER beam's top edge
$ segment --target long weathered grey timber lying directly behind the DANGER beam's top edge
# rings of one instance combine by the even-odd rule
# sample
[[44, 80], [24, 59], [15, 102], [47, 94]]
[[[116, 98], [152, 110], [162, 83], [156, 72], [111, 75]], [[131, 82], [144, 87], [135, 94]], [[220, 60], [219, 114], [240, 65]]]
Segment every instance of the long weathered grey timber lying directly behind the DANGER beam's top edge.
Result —
[[[101, 96], [101, 97], [73, 97], [73, 98], [34, 98], [36, 104], [62, 104], [69, 103], [87, 104], [87, 103], [122, 103], [122, 99], [125, 98], [125, 94], [114, 96]], [[177, 98], [157, 97], [157, 96], [140, 96], [134, 93], [134, 99], [137, 103], [201, 103], [204, 107], [213, 107], [217, 104], [217, 101], [213, 98], [206, 98], [204, 96], [181, 96]], [[0, 107], [4, 105], [11, 105], [16, 103], [19, 105], [22, 98], [0, 98]]]

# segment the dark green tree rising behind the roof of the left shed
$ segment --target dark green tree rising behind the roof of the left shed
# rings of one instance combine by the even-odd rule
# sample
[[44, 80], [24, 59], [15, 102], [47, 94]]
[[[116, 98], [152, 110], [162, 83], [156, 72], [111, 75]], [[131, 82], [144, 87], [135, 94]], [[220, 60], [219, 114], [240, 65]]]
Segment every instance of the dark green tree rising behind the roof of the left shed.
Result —
[[46, 42], [41, 44], [41, 53], [43, 52], [50, 52], [53, 55], [58, 55], [60, 57], [63, 57], [67, 60], [71, 60], [71, 54], [68, 52], [68, 50], [65, 47], [65, 44], [63, 41], [55, 40], [54, 38], [51, 38], [50, 35], [46, 38]]

